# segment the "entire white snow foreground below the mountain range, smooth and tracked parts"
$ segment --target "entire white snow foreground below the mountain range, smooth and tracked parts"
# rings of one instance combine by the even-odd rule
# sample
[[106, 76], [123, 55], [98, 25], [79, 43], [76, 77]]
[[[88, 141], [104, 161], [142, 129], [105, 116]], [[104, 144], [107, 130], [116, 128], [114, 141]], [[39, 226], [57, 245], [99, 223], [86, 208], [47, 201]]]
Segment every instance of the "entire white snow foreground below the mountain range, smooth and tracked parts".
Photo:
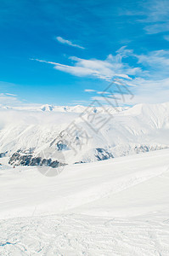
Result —
[[0, 255], [169, 255], [169, 149], [65, 166], [0, 167]]

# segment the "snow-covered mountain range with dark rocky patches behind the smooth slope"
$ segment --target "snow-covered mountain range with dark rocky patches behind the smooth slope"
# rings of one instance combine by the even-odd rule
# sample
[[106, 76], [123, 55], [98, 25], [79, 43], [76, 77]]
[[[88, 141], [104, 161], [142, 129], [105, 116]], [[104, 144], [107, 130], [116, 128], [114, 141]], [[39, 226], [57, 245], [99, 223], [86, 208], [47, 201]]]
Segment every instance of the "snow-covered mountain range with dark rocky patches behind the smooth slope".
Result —
[[128, 109], [0, 110], [0, 154], [12, 165], [55, 167], [168, 147], [169, 102]]

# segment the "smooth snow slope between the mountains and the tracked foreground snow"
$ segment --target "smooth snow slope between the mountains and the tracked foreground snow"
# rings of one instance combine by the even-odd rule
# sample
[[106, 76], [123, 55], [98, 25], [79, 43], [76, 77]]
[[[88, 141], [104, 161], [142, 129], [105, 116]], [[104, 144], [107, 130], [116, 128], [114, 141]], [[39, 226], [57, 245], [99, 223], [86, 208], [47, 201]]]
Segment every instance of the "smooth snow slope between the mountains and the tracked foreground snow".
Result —
[[[158, 210], [159, 206], [152, 201], [156, 194], [155, 189], [158, 190], [158, 195], [155, 195], [154, 200], [159, 201], [160, 207], [168, 207], [168, 154], [169, 149], [163, 149], [102, 162], [65, 166], [63, 172], [55, 177], [43, 176], [37, 167], [16, 166], [13, 169], [10, 166], [2, 166], [1, 217], [30, 216], [35, 207], [37, 215], [67, 210], [70, 212], [76, 208], [78, 212], [97, 212], [97, 215], [101, 216], [135, 216], [140, 214], [137, 196], [142, 196], [139, 193], [149, 181], [152, 189], [148, 192], [151, 194], [149, 197], [143, 196], [143, 205], [147, 208], [142, 205], [141, 212], [143, 209], [143, 213], [149, 212], [152, 205], [155, 206], [155, 211]], [[138, 188], [138, 193], [132, 194], [133, 188]], [[125, 191], [124, 195], [122, 191]], [[127, 191], [131, 191], [131, 194], [127, 195]], [[145, 189], [143, 193], [146, 194]], [[122, 199], [124, 196], [128, 209], [131, 207], [130, 212], [123, 211], [123, 207], [126, 207], [124, 201], [121, 201], [121, 205], [115, 205], [118, 202], [116, 195], [122, 195]], [[132, 198], [131, 206], [127, 196]], [[107, 200], [109, 207], [106, 206]]]

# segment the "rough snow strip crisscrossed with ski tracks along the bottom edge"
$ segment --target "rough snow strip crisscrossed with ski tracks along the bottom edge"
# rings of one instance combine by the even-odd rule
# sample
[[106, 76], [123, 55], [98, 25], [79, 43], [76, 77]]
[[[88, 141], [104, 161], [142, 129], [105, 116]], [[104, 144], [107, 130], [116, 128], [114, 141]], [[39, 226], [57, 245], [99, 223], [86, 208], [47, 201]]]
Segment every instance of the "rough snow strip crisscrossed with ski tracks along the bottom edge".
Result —
[[4, 256], [169, 255], [167, 215], [109, 219], [71, 214], [12, 218], [0, 225]]

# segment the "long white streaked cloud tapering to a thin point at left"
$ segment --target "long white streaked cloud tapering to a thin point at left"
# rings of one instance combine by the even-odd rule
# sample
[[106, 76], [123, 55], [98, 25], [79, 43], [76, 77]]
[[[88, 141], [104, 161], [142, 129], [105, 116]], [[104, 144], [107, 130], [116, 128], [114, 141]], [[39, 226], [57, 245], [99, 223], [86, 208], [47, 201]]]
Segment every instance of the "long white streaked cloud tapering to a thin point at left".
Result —
[[104, 61], [81, 59], [75, 56], [71, 56], [69, 59], [72, 62], [72, 66], [53, 61], [35, 60], [52, 64], [55, 69], [75, 76], [93, 76], [106, 81], [111, 81], [114, 77], [131, 79], [130, 76], [142, 72], [140, 67], [129, 67], [127, 63], [122, 62], [122, 55], [118, 52], [116, 55], [108, 55]]

